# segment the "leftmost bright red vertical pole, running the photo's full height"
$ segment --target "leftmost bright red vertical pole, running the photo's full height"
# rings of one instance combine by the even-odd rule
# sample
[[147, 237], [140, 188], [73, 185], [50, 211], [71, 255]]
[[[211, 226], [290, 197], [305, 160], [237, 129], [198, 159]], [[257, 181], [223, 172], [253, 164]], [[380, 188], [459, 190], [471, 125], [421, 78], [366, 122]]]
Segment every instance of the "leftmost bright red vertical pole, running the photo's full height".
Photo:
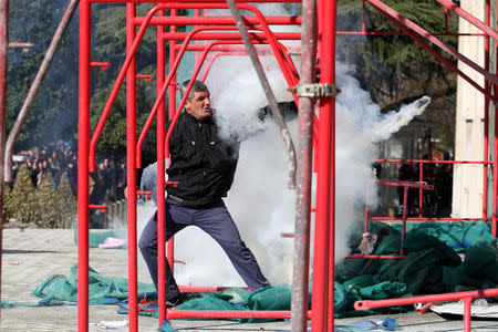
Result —
[[77, 331], [89, 331], [89, 152], [91, 4], [80, 1], [77, 103]]

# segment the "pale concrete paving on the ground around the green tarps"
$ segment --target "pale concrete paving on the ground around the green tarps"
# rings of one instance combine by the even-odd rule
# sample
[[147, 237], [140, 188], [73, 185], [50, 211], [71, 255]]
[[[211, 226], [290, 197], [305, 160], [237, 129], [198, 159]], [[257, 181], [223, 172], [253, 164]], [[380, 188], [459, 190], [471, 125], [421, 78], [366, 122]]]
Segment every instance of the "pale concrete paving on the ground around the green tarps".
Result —
[[[90, 249], [90, 266], [105, 277], [127, 278], [126, 250]], [[37, 303], [31, 295], [38, 284], [51, 274], [68, 276], [77, 262], [77, 247], [70, 229], [4, 229], [2, 252], [2, 300]], [[138, 281], [149, 283], [145, 269], [139, 269]], [[335, 320], [336, 325], [347, 325], [361, 319], [376, 321], [380, 317]], [[463, 331], [461, 319], [446, 320], [433, 312], [390, 315], [397, 320], [397, 331]], [[117, 313], [117, 305], [91, 305], [90, 331], [102, 331], [102, 321], [123, 321], [127, 315]], [[178, 331], [289, 331], [284, 321], [243, 324], [232, 321], [170, 321]], [[15, 307], [1, 310], [1, 331], [77, 331], [77, 307]], [[157, 320], [138, 318], [139, 331], [156, 331]], [[114, 331], [128, 331], [117, 328]], [[381, 331], [372, 330], [372, 331]], [[498, 321], [473, 320], [473, 331], [498, 331]]]

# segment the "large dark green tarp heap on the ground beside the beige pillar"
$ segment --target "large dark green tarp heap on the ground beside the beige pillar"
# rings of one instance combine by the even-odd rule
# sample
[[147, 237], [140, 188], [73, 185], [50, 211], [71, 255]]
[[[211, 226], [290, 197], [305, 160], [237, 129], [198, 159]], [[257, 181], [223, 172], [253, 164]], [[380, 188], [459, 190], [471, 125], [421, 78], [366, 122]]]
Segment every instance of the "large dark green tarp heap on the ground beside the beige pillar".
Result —
[[[375, 232], [381, 228], [388, 230], [390, 235], [382, 239], [373, 255], [400, 255], [400, 227], [372, 222]], [[440, 236], [446, 242], [433, 235]], [[434, 222], [432, 226], [409, 225], [403, 241], [406, 259], [345, 259], [338, 266], [335, 317], [361, 314], [352, 307], [352, 302], [360, 299], [495, 288], [498, 284], [498, 251], [492, 247], [494, 242], [488, 225], [479, 221], [446, 226], [434, 226]], [[469, 245], [465, 250], [465, 261], [448, 243], [458, 249]]]

